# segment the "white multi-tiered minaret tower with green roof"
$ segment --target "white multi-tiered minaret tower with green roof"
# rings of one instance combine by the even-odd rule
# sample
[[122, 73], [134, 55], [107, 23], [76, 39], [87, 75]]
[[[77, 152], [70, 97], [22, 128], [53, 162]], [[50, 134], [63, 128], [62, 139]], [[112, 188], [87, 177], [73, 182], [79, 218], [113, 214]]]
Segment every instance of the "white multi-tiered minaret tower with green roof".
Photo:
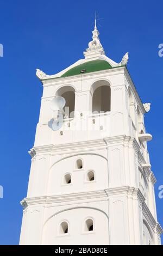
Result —
[[43, 96], [21, 202], [21, 245], [160, 244], [152, 136], [143, 119], [150, 104], [136, 92], [128, 53], [115, 63], [105, 56], [96, 21], [92, 34], [84, 59], [56, 75], [37, 69]]

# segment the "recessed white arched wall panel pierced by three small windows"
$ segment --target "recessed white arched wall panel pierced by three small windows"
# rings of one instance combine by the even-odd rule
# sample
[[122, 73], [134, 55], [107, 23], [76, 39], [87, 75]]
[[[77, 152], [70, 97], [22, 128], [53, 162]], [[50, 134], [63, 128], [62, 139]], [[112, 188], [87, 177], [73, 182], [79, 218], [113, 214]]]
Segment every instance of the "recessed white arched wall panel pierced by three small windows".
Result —
[[[76, 161], [83, 161], [83, 168], [76, 168]], [[94, 181], [87, 181], [87, 172], [93, 170]], [[64, 184], [64, 176], [71, 175], [71, 184]], [[108, 187], [108, 161], [97, 154], [70, 156], [55, 163], [49, 171], [48, 195], [96, 191]]]

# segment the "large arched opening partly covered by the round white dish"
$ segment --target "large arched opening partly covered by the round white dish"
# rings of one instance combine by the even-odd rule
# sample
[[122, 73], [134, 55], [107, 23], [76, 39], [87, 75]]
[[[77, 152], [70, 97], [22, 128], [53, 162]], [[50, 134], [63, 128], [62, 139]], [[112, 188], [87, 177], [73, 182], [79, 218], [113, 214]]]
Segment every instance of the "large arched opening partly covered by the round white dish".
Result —
[[75, 108], [75, 90], [71, 86], [61, 87], [56, 96], [62, 96], [66, 100], [66, 104], [64, 107], [65, 118], [73, 118], [74, 117], [74, 108]]

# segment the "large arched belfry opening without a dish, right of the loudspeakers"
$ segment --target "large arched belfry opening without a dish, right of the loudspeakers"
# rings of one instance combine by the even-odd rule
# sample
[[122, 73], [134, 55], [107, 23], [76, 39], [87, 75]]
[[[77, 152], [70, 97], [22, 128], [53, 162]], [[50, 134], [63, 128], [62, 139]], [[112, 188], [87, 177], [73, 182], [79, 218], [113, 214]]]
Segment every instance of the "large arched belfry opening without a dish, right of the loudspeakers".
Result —
[[92, 84], [92, 113], [109, 112], [111, 109], [111, 90], [107, 81], [97, 81]]

